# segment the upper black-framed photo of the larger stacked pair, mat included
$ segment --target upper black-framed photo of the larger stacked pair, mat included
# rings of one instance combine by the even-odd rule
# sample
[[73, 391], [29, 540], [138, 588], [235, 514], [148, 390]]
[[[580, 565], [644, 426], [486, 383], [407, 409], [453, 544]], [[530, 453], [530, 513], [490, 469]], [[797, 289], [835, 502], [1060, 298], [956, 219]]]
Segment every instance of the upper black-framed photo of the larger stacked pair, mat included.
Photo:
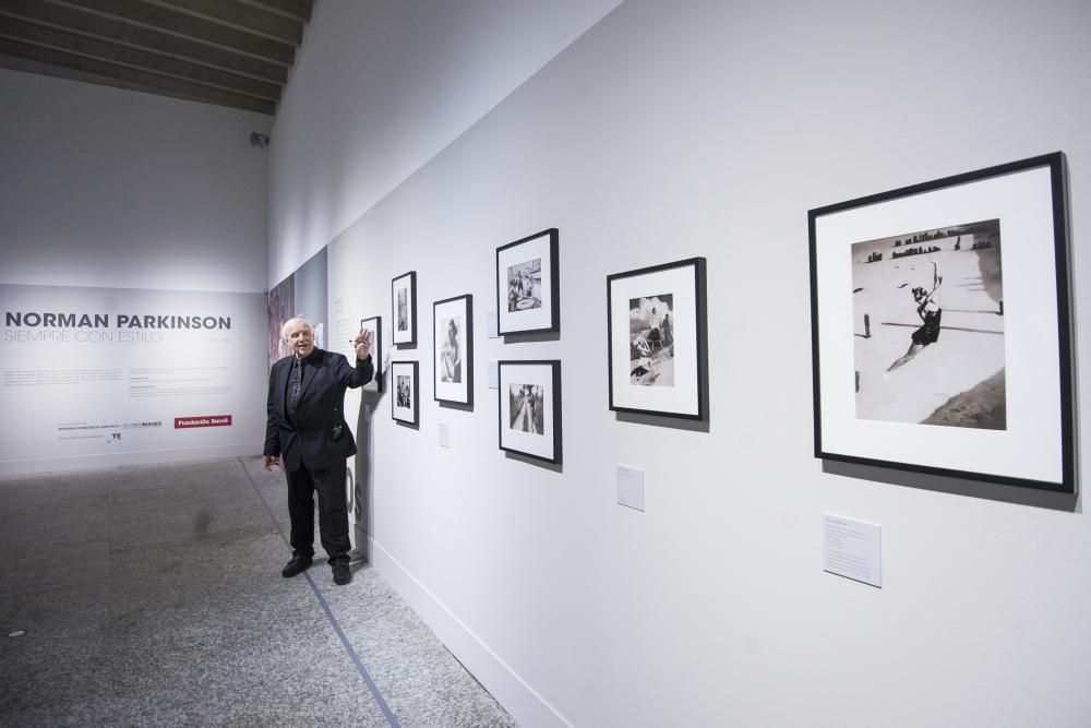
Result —
[[555, 227], [496, 249], [497, 334], [561, 331]]

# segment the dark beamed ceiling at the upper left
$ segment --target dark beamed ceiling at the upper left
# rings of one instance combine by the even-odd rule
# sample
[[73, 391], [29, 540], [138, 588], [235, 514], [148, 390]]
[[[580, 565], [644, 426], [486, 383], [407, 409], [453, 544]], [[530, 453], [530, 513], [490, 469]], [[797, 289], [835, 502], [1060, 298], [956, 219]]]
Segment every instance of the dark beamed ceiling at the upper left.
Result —
[[272, 115], [311, 0], [0, 0], [0, 68]]

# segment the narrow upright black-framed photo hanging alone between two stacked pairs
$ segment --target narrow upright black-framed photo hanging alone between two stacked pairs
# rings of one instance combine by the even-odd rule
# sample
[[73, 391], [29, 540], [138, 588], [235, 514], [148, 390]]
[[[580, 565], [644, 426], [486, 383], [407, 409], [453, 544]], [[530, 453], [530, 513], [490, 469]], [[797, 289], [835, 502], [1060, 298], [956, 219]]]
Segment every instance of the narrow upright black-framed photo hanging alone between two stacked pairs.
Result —
[[473, 404], [473, 297], [455, 296], [432, 305], [435, 342], [435, 399]]

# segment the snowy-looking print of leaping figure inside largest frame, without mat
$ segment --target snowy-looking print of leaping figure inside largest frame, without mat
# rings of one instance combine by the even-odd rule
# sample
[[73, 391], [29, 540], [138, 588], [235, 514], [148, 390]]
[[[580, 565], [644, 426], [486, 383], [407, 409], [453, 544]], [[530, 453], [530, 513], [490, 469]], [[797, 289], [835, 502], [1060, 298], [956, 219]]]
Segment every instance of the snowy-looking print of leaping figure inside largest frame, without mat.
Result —
[[1000, 220], [852, 246], [856, 417], [1007, 429]]

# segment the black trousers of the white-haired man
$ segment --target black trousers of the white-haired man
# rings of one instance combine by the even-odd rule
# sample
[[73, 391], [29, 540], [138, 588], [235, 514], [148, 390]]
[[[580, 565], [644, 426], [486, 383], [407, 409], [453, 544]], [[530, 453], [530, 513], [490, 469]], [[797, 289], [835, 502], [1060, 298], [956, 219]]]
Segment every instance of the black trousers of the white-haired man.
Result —
[[348, 504], [345, 501], [345, 461], [323, 469], [288, 470], [288, 515], [292, 556], [314, 554], [314, 493], [319, 494], [319, 534], [329, 563], [348, 562]]

